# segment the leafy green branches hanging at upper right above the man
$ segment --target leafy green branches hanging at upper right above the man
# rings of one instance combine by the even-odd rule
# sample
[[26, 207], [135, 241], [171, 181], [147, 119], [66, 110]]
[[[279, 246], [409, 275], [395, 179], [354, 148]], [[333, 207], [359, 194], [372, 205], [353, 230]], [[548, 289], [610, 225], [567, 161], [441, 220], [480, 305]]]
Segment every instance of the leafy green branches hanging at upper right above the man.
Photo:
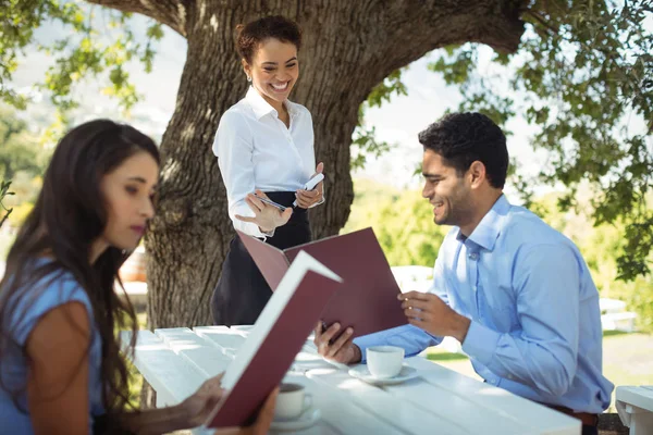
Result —
[[[650, 272], [653, 212], [644, 201], [653, 186], [653, 1], [534, 0], [523, 12], [520, 49], [496, 54], [496, 74], [481, 74], [477, 45], [449, 47], [430, 67], [465, 97], [459, 110], [484, 112], [500, 124], [522, 114], [540, 130], [534, 148], [550, 152], [535, 177], [520, 175], [527, 202], [531, 186], [562, 182], [562, 210], [578, 207], [582, 181], [595, 189], [594, 225], [621, 223], [618, 278]], [[514, 98], [515, 92], [521, 97]], [[632, 120], [645, 125], [633, 132]], [[534, 178], [534, 179], [533, 179]]]

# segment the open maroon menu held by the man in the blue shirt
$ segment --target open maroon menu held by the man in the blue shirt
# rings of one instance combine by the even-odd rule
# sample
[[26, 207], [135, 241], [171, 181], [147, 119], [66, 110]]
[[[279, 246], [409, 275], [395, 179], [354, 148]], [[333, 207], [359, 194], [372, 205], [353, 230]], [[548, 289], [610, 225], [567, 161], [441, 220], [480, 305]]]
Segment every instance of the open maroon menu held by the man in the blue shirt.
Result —
[[[321, 320], [352, 326], [354, 336], [405, 325], [401, 293], [372, 228], [323, 238], [284, 251], [245, 233], [243, 244], [274, 291], [299, 251], [306, 251], [343, 278]], [[344, 330], [342, 330], [344, 331]]]

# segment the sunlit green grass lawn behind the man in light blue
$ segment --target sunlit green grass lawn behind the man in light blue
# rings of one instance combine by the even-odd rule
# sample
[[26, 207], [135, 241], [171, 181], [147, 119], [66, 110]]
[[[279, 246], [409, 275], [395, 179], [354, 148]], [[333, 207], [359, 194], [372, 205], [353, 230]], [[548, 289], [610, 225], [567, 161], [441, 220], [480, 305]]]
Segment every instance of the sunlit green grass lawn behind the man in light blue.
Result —
[[[451, 357], [454, 355], [455, 357]], [[653, 335], [606, 331], [603, 334], [603, 375], [615, 388], [621, 385], [653, 385]], [[427, 351], [427, 358], [442, 366], [480, 380], [469, 359], [459, 353], [448, 353], [436, 347]], [[615, 391], [607, 412], [615, 410]]]

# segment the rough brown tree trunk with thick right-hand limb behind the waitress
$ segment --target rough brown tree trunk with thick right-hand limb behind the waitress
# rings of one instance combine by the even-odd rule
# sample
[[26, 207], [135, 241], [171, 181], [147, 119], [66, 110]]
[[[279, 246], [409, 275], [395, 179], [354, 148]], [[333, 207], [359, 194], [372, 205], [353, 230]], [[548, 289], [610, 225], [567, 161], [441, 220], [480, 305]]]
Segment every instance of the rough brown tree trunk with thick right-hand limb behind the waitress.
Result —
[[161, 145], [159, 213], [146, 237], [151, 327], [211, 323], [210, 296], [234, 235], [211, 145], [221, 114], [247, 89], [234, 47], [237, 24], [283, 14], [303, 27], [300, 79], [292, 99], [312, 113], [316, 157], [325, 167], [326, 203], [310, 214], [316, 238], [336, 234], [349, 215], [352, 133], [375, 85], [446, 45], [480, 41], [514, 51], [523, 32], [522, 2], [509, 0], [185, 3], [180, 33], [188, 55]]

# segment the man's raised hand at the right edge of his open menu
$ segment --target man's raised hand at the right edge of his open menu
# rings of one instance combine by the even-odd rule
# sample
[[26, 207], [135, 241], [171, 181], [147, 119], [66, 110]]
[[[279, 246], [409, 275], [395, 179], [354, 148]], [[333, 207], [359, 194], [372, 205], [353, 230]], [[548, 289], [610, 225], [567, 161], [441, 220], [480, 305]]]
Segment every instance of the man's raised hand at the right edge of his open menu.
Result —
[[397, 296], [402, 300], [408, 323], [429, 334], [451, 336], [465, 341], [471, 321], [458, 314], [438, 296], [429, 293], [408, 291]]

